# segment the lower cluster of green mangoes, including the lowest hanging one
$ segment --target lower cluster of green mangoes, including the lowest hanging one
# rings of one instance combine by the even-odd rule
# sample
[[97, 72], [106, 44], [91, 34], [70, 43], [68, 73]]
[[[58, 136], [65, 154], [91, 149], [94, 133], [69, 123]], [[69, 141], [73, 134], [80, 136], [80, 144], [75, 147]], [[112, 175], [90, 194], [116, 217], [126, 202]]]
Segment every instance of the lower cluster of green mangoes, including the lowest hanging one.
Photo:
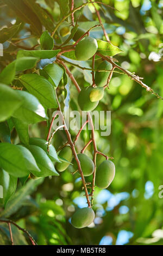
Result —
[[[78, 170], [78, 165], [75, 159], [73, 159], [73, 154], [70, 146], [62, 148], [59, 153], [60, 158], [64, 158], [67, 162], [57, 163], [56, 168], [58, 171], [65, 171], [70, 163], [73, 164], [73, 169]], [[91, 176], [95, 170], [95, 164], [90, 157], [87, 157], [84, 153], [79, 153], [78, 158], [80, 165], [85, 177]], [[114, 180], [115, 176], [115, 165], [110, 160], [105, 160], [102, 162], [96, 171], [96, 186], [104, 189], [108, 188], [111, 182]], [[71, 219], [71, 223], [75, 228], [85, 228], [89, 226], [95, 219], [95, 212], [92, 208], [85, 207], [79, 209], [74, 213]]]

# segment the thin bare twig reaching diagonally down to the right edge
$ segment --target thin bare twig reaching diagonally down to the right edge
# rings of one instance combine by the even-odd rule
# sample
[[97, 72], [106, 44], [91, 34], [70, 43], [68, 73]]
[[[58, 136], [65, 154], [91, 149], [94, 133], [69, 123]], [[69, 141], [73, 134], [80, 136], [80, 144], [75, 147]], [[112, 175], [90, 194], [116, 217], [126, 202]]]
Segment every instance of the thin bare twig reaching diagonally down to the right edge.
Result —
[[112, 64], [112, 66], [115, 66], [116, 68], [120, 69], [124, 74], [127, 74], [131, 79], [133, 79], [135, 82], [140, 84], [143, 88], [145, 88], [147, 90], [147, 92], [152, 92], [152, 94], [154, 94], [157, 98], [163, 100], [163, 98], [161, 96], [159, 96], [158, 93], [154, 92], [151, 87], [144, 84], [141, 81], [141, 78], [139, 78], [139, 76], [134, 75], [133, 73], [129, 72], [128, 70], [123, 69], [122, 67], [118, 66], [114, 61], [112, 61], [112, 59], [110, 57], [106, 57], [106, 56], [102, 55], [100, 52], [96, 52], [96, 55], [98, 55], [99, 57], [101, 57], [101, 58], [105, 59], [106, 61], [110, 62]]

